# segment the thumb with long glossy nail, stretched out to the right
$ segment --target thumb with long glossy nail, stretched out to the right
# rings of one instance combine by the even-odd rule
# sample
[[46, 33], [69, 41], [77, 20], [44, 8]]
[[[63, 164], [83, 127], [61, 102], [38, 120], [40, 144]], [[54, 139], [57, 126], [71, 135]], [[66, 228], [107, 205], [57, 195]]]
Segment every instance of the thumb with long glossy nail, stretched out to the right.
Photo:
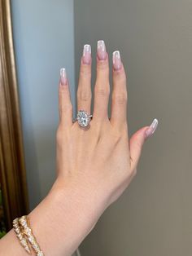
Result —
[[151, 126], [142, 127], [142, 129], [137, 130], [129, 140], [129, 150], [130, 157], [132, 161], [133, 170], [137, 168], [137, 164], [142, 152], [142, 146], [147, 138], [155, 133], [158, 126], [158, 120], [154, 119]]

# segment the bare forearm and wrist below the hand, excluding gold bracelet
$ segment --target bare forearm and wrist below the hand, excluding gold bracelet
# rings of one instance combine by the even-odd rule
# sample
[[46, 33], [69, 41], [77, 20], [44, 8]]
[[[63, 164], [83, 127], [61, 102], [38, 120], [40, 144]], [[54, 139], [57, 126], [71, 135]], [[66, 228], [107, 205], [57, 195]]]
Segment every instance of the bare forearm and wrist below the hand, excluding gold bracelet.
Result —
[[[103, 208], [86, 188], [55, 184], [28, 214], [34, 236], [46, 256], [71, 256], [87, 236]], [[95, 205], [96, 204], [96, 205]], [[95, 207], [94, 207], [95, 206]], [[27, 255], [13, 230], [0, 241], [0, 255]]]

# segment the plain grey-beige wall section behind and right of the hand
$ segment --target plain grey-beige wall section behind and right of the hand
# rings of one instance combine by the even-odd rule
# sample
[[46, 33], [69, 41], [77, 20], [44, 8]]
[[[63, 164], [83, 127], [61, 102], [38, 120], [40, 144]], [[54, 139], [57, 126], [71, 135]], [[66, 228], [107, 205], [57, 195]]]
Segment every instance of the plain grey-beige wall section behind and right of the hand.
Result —
[[83, 44], [95, 52], [104, 39], [129, 73], [130, 134], [159, 119], [137, 177], [82, 243], [83, 256], [191, 255], [191, 13], [189, 0], [75, 1], [76, 70]]

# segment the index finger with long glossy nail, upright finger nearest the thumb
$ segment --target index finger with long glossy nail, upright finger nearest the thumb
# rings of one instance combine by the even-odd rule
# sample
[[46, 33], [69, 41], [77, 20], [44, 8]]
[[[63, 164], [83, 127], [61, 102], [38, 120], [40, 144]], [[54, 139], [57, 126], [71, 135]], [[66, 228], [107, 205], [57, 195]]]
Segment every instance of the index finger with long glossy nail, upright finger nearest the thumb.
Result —
[[113, 52], [113, 90], [111, 97], [111, 124], [120, 129], [127, 124], [127, 86], [120, 51]]

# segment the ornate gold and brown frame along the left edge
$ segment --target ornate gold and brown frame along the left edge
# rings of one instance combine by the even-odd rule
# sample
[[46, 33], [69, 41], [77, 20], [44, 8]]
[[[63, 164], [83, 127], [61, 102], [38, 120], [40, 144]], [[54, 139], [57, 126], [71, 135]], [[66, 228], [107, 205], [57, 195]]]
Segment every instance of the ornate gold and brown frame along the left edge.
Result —
[[28, 214], [28, 192], [11, 27], [11, 3], [0, 0], [0, 183], [7, 231]]

